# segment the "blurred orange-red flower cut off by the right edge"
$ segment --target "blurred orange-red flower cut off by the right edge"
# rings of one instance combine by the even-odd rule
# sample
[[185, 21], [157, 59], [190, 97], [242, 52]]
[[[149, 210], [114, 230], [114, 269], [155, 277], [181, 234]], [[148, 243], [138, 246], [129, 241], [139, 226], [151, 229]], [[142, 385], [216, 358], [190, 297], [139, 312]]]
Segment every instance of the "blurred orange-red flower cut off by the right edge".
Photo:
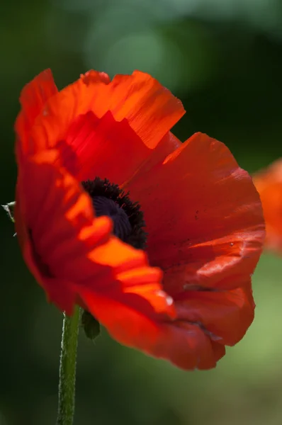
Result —
[[254, 175], [266, 222], [268, 249], [282, 253], [282, 159]]

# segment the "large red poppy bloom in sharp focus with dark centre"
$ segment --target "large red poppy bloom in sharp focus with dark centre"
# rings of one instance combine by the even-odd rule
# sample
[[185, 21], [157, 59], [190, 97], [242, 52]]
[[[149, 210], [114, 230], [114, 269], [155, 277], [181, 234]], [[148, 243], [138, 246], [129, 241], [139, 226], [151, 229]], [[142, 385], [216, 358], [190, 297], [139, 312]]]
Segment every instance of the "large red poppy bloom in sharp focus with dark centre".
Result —
[[[30, 223], [40, 217], [38, 234], [31, 230], [28, 236], [35, 256], [40, 253], [38, 263], [54, 261], [57, 280], [66, 278], [67, 287], [79, 286], [87, 310], [121, 343], [184, 369], [214, 367], [225, 354], [225, 345], [236, 344], [254, 316], [251, 275], [261, 254], [264, 221], [247, 172], [239, 169], [225, 145], [207, 135], [197, 133], [181, 145], [169, 131], [184, 115], [181, 102], [142, 72], [110, 81], [106, 74], [91, 71], [58, 92], [47, 70], [23, 89], [21, 106], [16, 122], [18, 163], [31, 157], [33, 165], [18, 188], [19, 202], [32, 176], [45, 173], [40, 170], [48, 162], [52, 173], [72, 180], [69, 191], [76, 187], [77, 198], [88, 205], [90, 220], [92, 199], [96, 215], [101, 215], [96, 220], [106, 220], [102, 222], [106, 227], [103, 215], [110, 215], [115, 234], [124, 242], [144, 248], [146, 232], [150, 263], [164, 271], [164, 290], [174, 299], [176, 317], [160, 314], [167, 312], [166, 297], [161, 297], [161, 306], [149, 296], [150, 302], [140, 305], [144, 291], [147, 295], [148, 286], [158, 280], [155, 269], [122, 271], [125, 288], [138, 293], [131, 310], [112, 296], [114, 285], [101, 272], [101, 278], [90, 283], [93, 264], [84, 266], [89, 251], [77, 246], [79, 232], [65, 242], [67, 229], [61, 225], [65, 217], [74, 217], [70, 211], [78, 210], [77, 203], [67, 195], [67, 184], [49, 175], [45, 186], [40, 182], [44, 190], [26, 225], [30, 229]], [[19, 176], [18, 186], [21, 180]], [[50, 196], [46, 196], [47, 185]], [[52, 196], [54, 186], [61, 191], [57, 224], [46, 234], [47, 242], [41, 242], [50, 227], [51, 205], [54, 214], [59, 204]], [[30, 191], [39, 197], [39, 184]], [[31, 208], [33, 203], [28, 200], [26, 205]], [[19, 215], [26, 217], [21, 204]], [[89, 229], [82, 227], [81, 233], [97, 244]], [[122, 244], [116, 239], [114, 243]], [[69, 244], [76, 248], [70, 249]], [[142, 251], [134, 255], [144, 258]], [[109, 264], [111, 273], [115, 256], [119, 251], [105, 245], [101, 254], [90, 255], [90, 261]], [[155, 301], [156, 284], [153, 290]]]

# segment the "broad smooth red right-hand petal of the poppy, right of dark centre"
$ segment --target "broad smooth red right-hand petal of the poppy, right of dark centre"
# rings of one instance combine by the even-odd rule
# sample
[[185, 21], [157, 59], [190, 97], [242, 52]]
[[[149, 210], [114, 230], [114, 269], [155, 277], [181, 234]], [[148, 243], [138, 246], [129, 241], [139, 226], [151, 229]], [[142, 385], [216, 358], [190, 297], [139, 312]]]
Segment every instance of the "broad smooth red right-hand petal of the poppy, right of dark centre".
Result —
[[197, 133], [127, 187], [144, 212], [150, 262], [174, 296], [190, 285], [231, 289], [254, 271], [264, 219], [252, 179], [229, 149]]

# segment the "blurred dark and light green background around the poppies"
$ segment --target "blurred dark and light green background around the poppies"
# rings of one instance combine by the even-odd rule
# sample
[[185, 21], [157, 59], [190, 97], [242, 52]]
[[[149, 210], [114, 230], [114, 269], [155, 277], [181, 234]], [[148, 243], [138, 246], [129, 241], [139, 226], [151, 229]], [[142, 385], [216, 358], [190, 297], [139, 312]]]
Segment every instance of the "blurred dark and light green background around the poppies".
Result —
[[[281, 0], [6, 0], [0, 21], [1, 203], [14, 198], [18, 95], [46, 67], [60, 88], [89, 68], [149, 72], [184, 103], [181, 140], [207, 132], [250, 172], [281, 156]], [[0, 225], [0, 425], [55, 424], [62, 315], [4, 211]], [[81, 332], [75, 424], [280, 425], [281, 274], [264, 254], [254, 324], [215, 370], [184, 373]]]

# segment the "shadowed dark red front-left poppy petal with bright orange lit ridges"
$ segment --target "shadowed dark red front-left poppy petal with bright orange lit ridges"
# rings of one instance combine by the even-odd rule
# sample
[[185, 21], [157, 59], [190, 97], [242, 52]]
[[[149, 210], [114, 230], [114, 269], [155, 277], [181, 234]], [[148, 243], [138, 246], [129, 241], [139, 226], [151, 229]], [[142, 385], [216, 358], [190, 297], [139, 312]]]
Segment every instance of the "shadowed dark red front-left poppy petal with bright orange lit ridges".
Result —
[[94, 217], [91, 199], [79, 183], [54, 166], [58, 155], [50, 149], [26, 160], [16, 200], [23, 256], [49, 299], [71, 314], [75, 300], [88, 305], [81, 296], [84, 289], [105, 297], [118, 293], [125, 304], [134, 297], [145, 315], [174, 317], [173, 302], [159, 283], [161, 271], [148, 266], [143, 251], [111, 236], [108, 217]]

